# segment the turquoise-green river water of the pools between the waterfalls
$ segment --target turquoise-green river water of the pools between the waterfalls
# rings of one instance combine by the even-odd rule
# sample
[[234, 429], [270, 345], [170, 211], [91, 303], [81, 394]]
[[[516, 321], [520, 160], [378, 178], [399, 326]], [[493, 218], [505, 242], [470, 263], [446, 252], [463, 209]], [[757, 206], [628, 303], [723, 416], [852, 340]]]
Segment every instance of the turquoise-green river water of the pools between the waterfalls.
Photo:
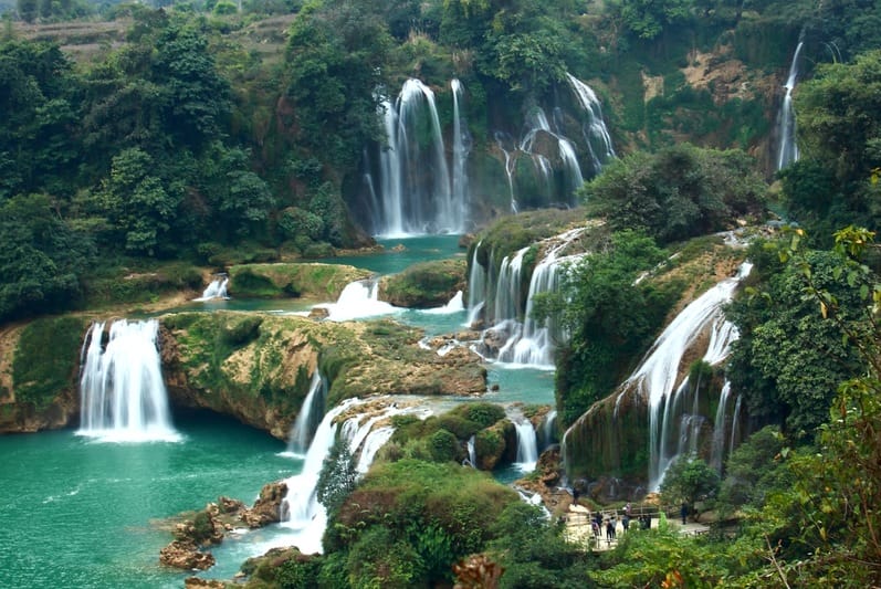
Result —
[[[430, 259], [464, 255], [457, 236], [390, 240], [403, 252], [337, 259], [377, 273]], [[301, 311], [297, 303], [230, 301], [188, 308]], [[464, 312], [395, 314], [429, 334], [462, 328]], [[553, 372], [489, 365], [496, 402], [553, 403]], [[0, 437], [0, 588], [182, 587], [189, 574], [158, 564], [171, 540], [164, 520], [220, 495], [253, 503], [263, 484], [297, 474], [285, 444], [238, 422], [200, 413], [175, 416], [180, 442], [101, 443], [73, 430]], [[212, 550], [218, 565], [200, 576], [230, 578], [249, 556], [284, 530], [234, 535]]]

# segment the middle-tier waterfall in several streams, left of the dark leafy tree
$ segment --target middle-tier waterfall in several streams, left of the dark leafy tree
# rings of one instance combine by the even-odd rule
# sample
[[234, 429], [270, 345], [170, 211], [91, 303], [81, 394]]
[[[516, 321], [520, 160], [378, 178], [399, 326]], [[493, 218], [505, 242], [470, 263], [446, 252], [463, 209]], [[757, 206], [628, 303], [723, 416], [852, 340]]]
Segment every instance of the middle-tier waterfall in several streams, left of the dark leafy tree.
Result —
[[532, 271], [525, 301], [523, 264], [531, 248], [505, 256], [494, 280], [491, 280], [491, 272], [478, 263], [475, 248], [469, 272], [469, 320], [480, 323], [482, 314], [490, 325], [479, 349], [483, 356], [508, 365], [554, 368], [555, 341], [565, 340], [567, 336], [554, 317], [535, 320], [533, 309], [539, 295], [559, 287], [567, 264], [584, 255], [564, 253], [585, 231], [586, 228], [576, 228], [539, 242], [544, 255]]

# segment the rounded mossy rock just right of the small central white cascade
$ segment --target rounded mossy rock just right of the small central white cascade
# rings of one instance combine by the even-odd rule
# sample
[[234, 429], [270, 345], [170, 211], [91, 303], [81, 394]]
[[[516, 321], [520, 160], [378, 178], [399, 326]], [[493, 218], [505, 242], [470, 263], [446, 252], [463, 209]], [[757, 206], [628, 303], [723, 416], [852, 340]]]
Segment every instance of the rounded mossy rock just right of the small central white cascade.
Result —
[[415, 264], [399, 274], [384, 276], [379, 298], [397, 307], [429, 308], [445, 305], [468, 286], [463, 259]]

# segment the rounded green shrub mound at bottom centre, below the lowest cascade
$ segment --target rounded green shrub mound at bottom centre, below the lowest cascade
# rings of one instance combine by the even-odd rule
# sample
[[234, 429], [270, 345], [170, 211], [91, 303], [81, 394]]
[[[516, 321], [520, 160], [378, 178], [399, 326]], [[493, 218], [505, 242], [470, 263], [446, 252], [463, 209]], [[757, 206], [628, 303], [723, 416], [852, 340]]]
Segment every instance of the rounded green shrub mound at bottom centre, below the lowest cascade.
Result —
[[489, 475], [450, 462], [377, 463], [332, 522], [325, 549], [350, 550], [353, 586], [398, 570], [405, 555], [409, 566], [399, 572], [412, 575], [410, 583], [449, 582], [451, 565], [481, 550], [490, 524], [516, 502]]

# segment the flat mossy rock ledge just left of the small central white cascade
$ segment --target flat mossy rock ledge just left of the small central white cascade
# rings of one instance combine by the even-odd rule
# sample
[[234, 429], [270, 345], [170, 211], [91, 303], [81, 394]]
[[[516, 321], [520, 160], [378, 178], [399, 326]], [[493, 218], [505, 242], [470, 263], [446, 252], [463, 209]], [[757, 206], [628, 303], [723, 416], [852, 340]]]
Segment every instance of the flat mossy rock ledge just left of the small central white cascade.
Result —
[[367, 270], [343, 264], [242, 264], [231, 266], [230, 294], [249, 298], [308, 297], [336, 301], [346, 284], [367, 278]]

